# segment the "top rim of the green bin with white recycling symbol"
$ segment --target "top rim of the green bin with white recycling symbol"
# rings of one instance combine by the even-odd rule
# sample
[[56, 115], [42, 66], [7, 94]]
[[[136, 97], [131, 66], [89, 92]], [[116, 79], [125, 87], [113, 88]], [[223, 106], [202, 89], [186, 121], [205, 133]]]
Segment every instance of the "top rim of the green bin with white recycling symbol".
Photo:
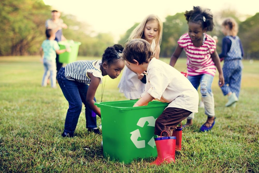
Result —
[[153, 107], [165, 107], [168, 105], [168, 103], [160, 102], [160, 101], [153, 101], [155, 103], [158, 103], [156, 105], [147, 105], [147, 106], [138, 106], [138, 107], [116, 107], [116, 106], [110, 106], [105, 105], [105, 103], [118, 103], [118, 102], [133, 102], [137, 100], [123, 100], [123, 101], [110, 101], [110, 102], [97, 102], [95, 105], [99, 108], [101, 107], [109, 107], [112, 109], [118, 109], [118, 110], [132, 110], [132, 109], [142, 109], [142, 108], [153, 108]]

